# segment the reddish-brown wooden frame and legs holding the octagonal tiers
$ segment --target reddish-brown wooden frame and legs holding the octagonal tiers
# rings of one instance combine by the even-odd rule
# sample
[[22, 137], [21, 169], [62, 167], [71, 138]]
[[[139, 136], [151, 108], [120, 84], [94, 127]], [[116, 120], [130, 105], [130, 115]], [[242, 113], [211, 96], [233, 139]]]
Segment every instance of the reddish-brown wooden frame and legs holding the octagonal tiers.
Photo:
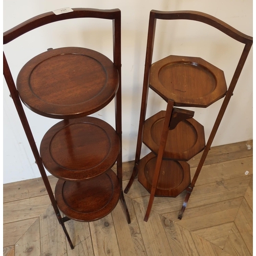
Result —
[[[152, 56], [153, 56], [153, 48], [154, 48], [154, 40], [155, 40], [155, 30], [156, 30], [156, 22], [157, 19], [165, 19], [165, 20], [176, 20], [176, 19], [187, 19], [187, 20], [196, 20], [197, 22], [205, 23], [209, 26], [215, 27], [216, 29], [220, 30], [221, 32], [225, 33], [226, 35], [230, 36], [234, 40], [237, 40], [241, 42], [242, 44], [245, 45], [244, 50], [241, 54], [240, 60], [238, 62], [237, 68], [234, 71], [233, 78], [229, 84], [228, 90], [225, 94], [224, 101], [222, 103], [222, 106], [220, 108], [219, 114], [217, 116], [217, 119], [215, 121], [214, 126], [212, 127], [212, 131], [210, 133], [209, 139], [207, 141], [207, 144], [204, 148], [204, 152], [202, 155], [202, 158], [200, 160], [200, 163], [197, 167], [196, 173], [194, 175], [193, 180], [191, 181], [190, 185], [187, 187], [187, 195], [185, 197], [183, 206], [181, 208], [180, 214], [178, 216], [179, 219], [182, 218], [183, 212], [186, 208], [188, 199], [191, 195], [191, 192], [193, 191], [193, 188], [196, 184], [196, 181], [198, 179], [198, 176], [201, 172], [203, 163], [207, 157], [207, 154], [210, 150], [210, 146], [212, 141], [215, 138], [215, 135], [217, 133], [218, 127], [221, 123], [221, 120], [223, 118], [223, 115], [225, 113], [225, 110], [227, 108], [227, 105], [229, 103], [229, 100], [233, 94], [233, 90], [236, 87], [237, 81], [239, 79], [239, 76], [242, 72], [242, 69], [244, 67], [244, 63], [246, 61], [246, 58], [249, 54], [250, 48], [252, 46], [252, 37], [245, 35], [241, 33], [240, 31], [234, 29], [233, 27], [229, 26], [228, 24], [222, 22], [222, 20], [202, 13], [202, 12], [197, 12], [197, 11], [157, 11], [157, 10], [152, 10], [150, 12], [150, 19], [149, 19], [149, 24], [148, 24], [148, 34], [147, 34], [147, 47], [146, 47], [146, 58], [145, 58], [145, 69], [144, 69], [144, 80], [143, 80], [143, 91], [142, 91], [142, 101], [141, 101], [141, 112], [140, 112], [140, 121], [139, 121], [139, 130], [138, 130], [138, 138], [137, 138], [137, 147], [136, 147], [136, 156], [135, 156], [135, 165], [133, 169], [132, 176], [130, 178], [129, 183], [127, 184], [126, 188], [124, 189], [124, 193], [128, 193], [129, 189], [131, 188], [134, 179], [138, 175], [138, 165], [140, 161], [140, 154], [141, 154], [141, 147], [142, 147], [142, 141], [143, 141], [143, 125], [145, 122], [145, 116], [146, 116], [146, 106], [147, 106], [147, 96], [148, 96], [148, 89], [151, 87], [150, 85], [150, 70], [152, 66]], [[152, 88], [154, 89], [154, 88]], [[154, 90], [156, 91], [156, 90]], [[157, 92], [157, 91], [156, 91]], [[158, 92], [157, 92], [158, 93]], [[176, 105], [176, 102], [172, 98], [166, 98], [165, 95], [158, 93], [161, 97], [163, 97], [166, 101], [168, 100], [173, 100], [174, 101], [174, 106]], [[180, 104], [179, 104], [180, 105]], [[184, 105], [185, 106], [185, 105]], [[197, 107], [201, 107], [200, 104], [198, 105], [193, 105]], [[206, 106], [205, 106], [206, 107]], [[167, 106], [168, 108], [168, 106]], [[160, 151], [160, 148], [159, 148]], [[158, 168], [156, 168], [155, 176], [158, 174]], [[157, 178], [154, 177], [154, 180], [157, 180]], [[151, 199], [150, 203], [148, 204], [148, 211], [150, 211], [152, 204], [153, 204], [153, 194], [154, 194], [154, 188], [152, 188], [152, 193], [151, 193]], [[146, 216], [145, 216], [145, 221], [147, 221], [149, 212], [147, 211]]]

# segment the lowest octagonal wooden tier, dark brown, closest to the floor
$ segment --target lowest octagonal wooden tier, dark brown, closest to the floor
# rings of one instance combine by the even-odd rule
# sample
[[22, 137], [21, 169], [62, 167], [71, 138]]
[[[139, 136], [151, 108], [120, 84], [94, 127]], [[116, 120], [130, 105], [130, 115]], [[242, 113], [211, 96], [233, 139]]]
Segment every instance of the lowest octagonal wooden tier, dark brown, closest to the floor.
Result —
[[[138, 181], [151, 193], [157, 156], [150, 153], [139, 161]], [[189, 164], [182, 161], [162, 160], [156, 197], [177, 197], [190, 184]]]

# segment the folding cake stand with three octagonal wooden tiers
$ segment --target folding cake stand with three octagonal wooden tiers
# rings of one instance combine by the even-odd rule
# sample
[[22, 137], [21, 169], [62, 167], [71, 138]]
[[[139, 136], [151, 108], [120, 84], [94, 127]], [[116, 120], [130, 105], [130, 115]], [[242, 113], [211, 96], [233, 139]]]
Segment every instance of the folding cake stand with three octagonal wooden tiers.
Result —
[[[228, 90], [223, 71], [202, 58], [170, 55], [152, 64], [157, 19], [197, 20], [245, 44]], [[138, 181], [150, 193], [144, 221], [148, 220], [155, 196], [177, 197], [186, 189], [187, 195], [178, 217], [182, 218], [251, 45], [252, 37], [208, 14], [196, 11], [151, 11], [135, 166], [124, 190], [124, 193], [129, 191], [138, 175]], [[167, 102], [167, 108], [166, 111], [160, 111], [145, 120], [148, 88]], [[177, 106], [207, 108], [223, 97], [225, 98], [220, 112], [205, 145], [204, 127], [193, 118], [194, 112]], [[140, 159], [142, 142], [152, 152]], [[190, 168], [186, 161], [203, 150], [191, 181]]]

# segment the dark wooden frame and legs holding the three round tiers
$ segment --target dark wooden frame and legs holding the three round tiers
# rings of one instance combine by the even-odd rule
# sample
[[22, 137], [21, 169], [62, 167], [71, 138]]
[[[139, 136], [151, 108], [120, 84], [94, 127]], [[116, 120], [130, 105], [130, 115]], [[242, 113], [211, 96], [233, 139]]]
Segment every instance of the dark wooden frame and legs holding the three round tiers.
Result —
[[[19, 24], [18, 26], [6, 31], [4, 33], [3, 41], [4, 44], [8, 44], [8, 42], [16, 39], [17, 37], [36, 29], [40, 26], [44, 26], [46, 24], [50, 24], [53, 22], [58, 22], [60, 20], [72, 19], [72, 18], [101, 18], [101, 19], [111, 19], [113, 21], [113, 63], [118, 71], [119, 76], [119, 85], [118, 90], [115, 94], [115, 119], [116, 119], [116, 133], [120, 140], [120, 152], [117, 158], [117, 178], [119, 180], [120, 187], [120, 197], [124, 210], [126, 213], [127, 222], [130, 223], [130, 215], [127, 209], [127, 205], [124, 200], [123, 190], [122, 190], [122, 150], [121, 150], [121, 141], [122, 141], [122, 119], [121, 119], [121, 11], [119, 9], [112, 10], [99, 10], [99, 9], [90, 9], [90, 8], [73, 8], [73, 12], [63, 13], [61, 15], [55, 15], [53, 12], [48, 12], [44, 14], [37, 15], [26, 22]], [[13, 80], [5, 53], [4, 53], [4, 77], [6, 79], [9, 91], [11, 93], [11, 97], [15, 104], [17, 113], [19, 115], [20, 121], [22, 122], [24, 131], [26, 133], [27, 139], [29, 141], [32, 153], [35, 157], [35, 161], [38, 165], [41, 177], [44, 181], [46, 189], [48, 191], [48, 195], [50, 197], [52, 206], [54, 208], [56, 217], [61, 224], [63, 231], [65, 232], [67, 239], [71, 248], [74, 246], [69, 237], [67, 229], [65, 227], [64, 222], [70, 220], [68, 217], [61, 217], [60, 211], [58, 209], [55, 197], [53, 195], [49, 180], [46, 175], [45, 167], [42, 163], [42, 159], [38, 152], [32, 131], [30, 129], [29, 122], [27, 120], [26, 114], [23, 109], [22, 102], [19, 97], [19, 93], [16, 89], [15, 82]], [[58, 117], [54, 117], [58, 118]], [[61, 117], [60, 117], [61, 118]], [[69, 119], [70, 116], [63, 117], [63, 119]], [[76, 116], [72, 116], [71, 118], [76, 118]], [[66, 120], [66, 121], [67, 121]]]

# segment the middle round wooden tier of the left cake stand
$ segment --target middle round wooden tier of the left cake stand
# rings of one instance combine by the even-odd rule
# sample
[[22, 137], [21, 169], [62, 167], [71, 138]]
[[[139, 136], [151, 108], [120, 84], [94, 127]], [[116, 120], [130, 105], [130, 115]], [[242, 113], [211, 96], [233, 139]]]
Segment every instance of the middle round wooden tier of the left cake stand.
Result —
[[80, 181], [109, 170], [120, 152], [113, 127], [94, 117], [63, 120], [42, 138], [40, 155], [47, 170], [57, 178]]

